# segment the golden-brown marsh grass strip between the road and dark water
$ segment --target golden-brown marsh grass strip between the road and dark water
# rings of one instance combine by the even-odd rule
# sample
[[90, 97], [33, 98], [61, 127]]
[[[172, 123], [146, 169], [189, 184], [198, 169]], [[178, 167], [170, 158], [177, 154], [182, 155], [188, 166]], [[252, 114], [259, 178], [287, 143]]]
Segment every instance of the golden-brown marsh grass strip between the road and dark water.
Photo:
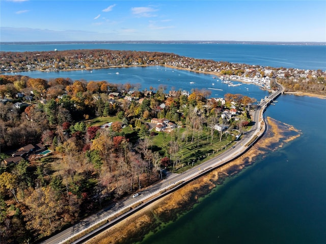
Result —
[[301, 135], [301, 132], [293, 126], [280, 123], [269, 117], [267, 117], [267, 123], [270, 129], [248, 152], [146, 206], [129, 218], [93, 237], [87, 243], [133, 243], [141, 241], [149, 232], [160, 229], [162, 223], [174, 221], [178, 214], [190, 210], [200, 197], [210, 193], [216, 185], [223, 183], [226, 177], [235, 175], [253, 164], [257, 156], [268, 151], [275, 151]]

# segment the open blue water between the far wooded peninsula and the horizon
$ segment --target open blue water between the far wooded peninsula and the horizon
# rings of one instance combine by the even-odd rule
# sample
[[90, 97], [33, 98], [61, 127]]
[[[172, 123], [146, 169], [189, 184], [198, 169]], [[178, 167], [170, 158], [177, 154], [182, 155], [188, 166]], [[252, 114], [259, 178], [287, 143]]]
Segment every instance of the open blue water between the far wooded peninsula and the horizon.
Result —
[[180, 56], [271, 67], [326, 70], [326, 45], [256, 44], [1, 44], [1, 51], [110, 49], [172, 52]]

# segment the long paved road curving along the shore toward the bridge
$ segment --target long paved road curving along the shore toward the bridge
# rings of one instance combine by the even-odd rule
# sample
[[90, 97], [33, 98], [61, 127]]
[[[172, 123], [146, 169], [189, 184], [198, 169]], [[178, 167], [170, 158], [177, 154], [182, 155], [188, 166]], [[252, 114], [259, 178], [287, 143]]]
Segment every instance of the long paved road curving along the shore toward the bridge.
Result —
[[225, 150], [222, 154], [218, 157], [209, 159], [203, 162], [201, 165], [195, 166], [192, 169], [189, 169], [181, 174], [170, 174], [165, 180], [158, 182], [157, 184], [145, 189], [144, 191], [140, 192], [140, 196], [137, 198], [125, 198], [121, 201], [112, 204], [111, 206], [106, 207], [102, 211], [89, 216], [87, 219], [75, 224], [74, 226], [52, 236], [51, 238], [41, 242], [41, 243], [64, 243], [71, 237], [78, 235], [85, 231], [87, 228], [95, 226], [96, 224], [102, 222], [103, 220], [114, 216], [118, 212], [129, 208], [130, 206], [134, 205], [135, 203], [143, 202], [144, 200], [152, 197], [156, 194], [161, 193], [164, 190], [171, 188], [179, 184], [182, 181], [188, 181], [195, 177], [198, 177], [200, 174], [204, 174], [207, 170], [212, 168], [218, 168], [223, 164], [226, 164], [230, 160], [234, 159], [235, 157], [241, 155], [245, 151], [248, 150], [247, 144], [257, 135], [259, 138], [264, 130], [265, 130], [265, 123], [263, 121], [263, 112], [266, 109], [267, 105], [273, 101], [277, 96], [283, 93], [283, 87], [279, 86], [279, 91], [271, 94], [267, 99], [260, 103], [260, 109], [253, 112], [253, 121], [255, 124], [253, 125], [251, 131], [244, 133], [241, 136], [241, 140], [239, 140], [236, 145], [228, 150]]

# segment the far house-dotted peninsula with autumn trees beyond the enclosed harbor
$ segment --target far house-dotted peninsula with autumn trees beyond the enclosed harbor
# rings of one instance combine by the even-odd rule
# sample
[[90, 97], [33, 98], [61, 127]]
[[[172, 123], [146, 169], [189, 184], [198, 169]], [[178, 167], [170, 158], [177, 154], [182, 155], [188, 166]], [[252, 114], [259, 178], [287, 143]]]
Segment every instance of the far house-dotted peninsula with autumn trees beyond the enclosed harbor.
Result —
[[[66, 50], [42, 52], [0, 52], [1, 72], [28, 70], [59, 71], [110, 67], [161, 65], [194, 72], [209, 73], [225, 79], [269, 85], [272, 77], [285, 92], [326, 95], [326, 71], [273, 68], [259, 65], [236, 64], [201, 60], [165, 52], [117, 50]], [[269, 87], [267, 87], [269, 89]]]

